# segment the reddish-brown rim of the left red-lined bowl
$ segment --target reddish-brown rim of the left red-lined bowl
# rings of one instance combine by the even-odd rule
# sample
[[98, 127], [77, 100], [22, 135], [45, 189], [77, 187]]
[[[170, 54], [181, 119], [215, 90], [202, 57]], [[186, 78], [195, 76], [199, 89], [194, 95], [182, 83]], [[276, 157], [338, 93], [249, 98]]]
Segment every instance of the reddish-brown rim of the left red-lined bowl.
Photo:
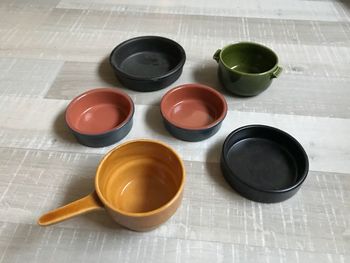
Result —
[[[96, 94], [96, 93], [101, 93], [101, 92], [117, 94], [119, 96], [122, 96], [123, 98], [125, 98], [128, 101], [128, 103], [130, 105], [130, 111], [128, 112], [126, 118], [121, 123], [119, 123], [116, 127], [113, 127], [112, 129], [109, 129], [109, 130], [106, 130], [103, 132], [86, 132], [86, 131], [82, 131], [80, 129], [77, 129], [73, 125], [73, 123], [71, 122], [71, 120], [69, 118], [70, 111], [73, 109], [75, 104], [79, 100], [81, 100], [82, 98], [84, 98], [86, 96], [91, 96], [91, 95]], [[134, 112], [135, 112], [134, 102], [132, 101], [132, 99], [130, 98], [130, 96], [127, 93], [125, 93], [117, 88], [95, 88], [95, 89], [90, 89], [88, 91], [85, 91], [85, 92], [81, 93], [80, 95], [76, 96], [74, 99], [72, 99], [72, 101], [68, 104], [66, 111], [65, 111], [65, 121], [66, 121], [68, 127], [78, 134], [90, 135], [90, 136], [106, 135], [110, 132], [114, 132], [114, 131], [117, 131], [117, 130], [123, 128], [132, 119]]]

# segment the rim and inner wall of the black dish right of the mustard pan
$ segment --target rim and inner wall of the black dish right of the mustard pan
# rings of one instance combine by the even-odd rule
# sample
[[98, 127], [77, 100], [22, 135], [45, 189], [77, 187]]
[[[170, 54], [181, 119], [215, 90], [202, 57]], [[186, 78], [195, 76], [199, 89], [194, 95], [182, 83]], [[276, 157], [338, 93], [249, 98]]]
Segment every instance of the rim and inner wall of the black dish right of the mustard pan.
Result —
[[[279, 133], [280, 135], [285, 136], [288, 140], [290, 140], [297, 148], [298, 150], [300, 150], [300, 152], [302, 153], [302, 157], [305, 161], [305, 169], [303, 171], [303, 173], [301, 174], [300, 178], [291, 186], [287, 187], [287, 188], [283, 188], [283, 189], [263, 189], [263, 188], [257, 188], [255, 186], [252, 186], [251, 184], [241, 180], [229, 167], [228, 162], [229, 160], [227, 159], [227, 154], [225, 154], [225, 152], [227, 152], [228, 149], [228, 143], [229, 141], [232, 139], [232, 137], [234, 137], [237, 133], [243, 131], [243, 130], [248, 130], [248, 129], [257, 129], [257, 128], [263, 128], [275, 133]], [[243, 138], [243, 140], [246, 138]], [[241, 141], [241, 140], [240, 140]], [[275, 141], [274, 141], [275, 142]], [[279, 143], [278, 143], [279, 144]], [[280, 144], [279, 144], [280, 145]], [[296, 188], [298, 188], [306, 179], [308, 172], [309, 172], [309, 158], [305, 152], [305, 149], [303, 148], [303, 146], [290, 134], [288, 134], [285, 131], [282, 131], [280, 129], [277, 129], [275, 127], [271, 127], [271, 126], [267, 126], [267, 125], [261, 125], [261, 124], [251, 124], [251, 125], [246, 125], [246, 126], [242, 126], [240, 128], [235, 129], [234, 131], [232, 131], [225, 139], [224, 144], [222, 146], [222, 150], [221, 150], [221, 160], [224, 163], [224, 165], [226, 166], [227, 170], [229, 171], [229, 174], [224, 174], [225, 177], [227, 178], [234, 178], [235, 180], [239, 181], [241, 184], [245, 185], [246, 187], [253, 189], [257, 192], [261, 192], [261, 193], [266, 193], [266, 194], [283, 194], [283, 193], [287, 193], [290, 192]]]

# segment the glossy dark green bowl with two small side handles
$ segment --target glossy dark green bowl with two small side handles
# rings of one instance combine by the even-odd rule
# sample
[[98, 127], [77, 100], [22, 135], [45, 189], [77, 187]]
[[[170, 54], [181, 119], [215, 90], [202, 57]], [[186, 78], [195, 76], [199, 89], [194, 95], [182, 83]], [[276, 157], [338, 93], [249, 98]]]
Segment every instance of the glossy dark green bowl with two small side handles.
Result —
[[263, 92], [282, 72], [276, 53], [257, 43], [228, 45], [217, 50], [213, 58], [219, 63], [218, 77], [222, 85], [239, 96]]

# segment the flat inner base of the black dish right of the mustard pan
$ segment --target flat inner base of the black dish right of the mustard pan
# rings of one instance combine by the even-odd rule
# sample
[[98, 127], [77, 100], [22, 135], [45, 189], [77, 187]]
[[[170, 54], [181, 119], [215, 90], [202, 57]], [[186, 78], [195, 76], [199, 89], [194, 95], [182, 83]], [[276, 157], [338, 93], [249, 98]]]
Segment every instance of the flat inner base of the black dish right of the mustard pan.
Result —
[[279, 190], [297, 180], [297, 166], [293, 156], [279, 144], [262, 139], [239, 141], [228, 151], [231, 171], [243, 182], [262, 190]]

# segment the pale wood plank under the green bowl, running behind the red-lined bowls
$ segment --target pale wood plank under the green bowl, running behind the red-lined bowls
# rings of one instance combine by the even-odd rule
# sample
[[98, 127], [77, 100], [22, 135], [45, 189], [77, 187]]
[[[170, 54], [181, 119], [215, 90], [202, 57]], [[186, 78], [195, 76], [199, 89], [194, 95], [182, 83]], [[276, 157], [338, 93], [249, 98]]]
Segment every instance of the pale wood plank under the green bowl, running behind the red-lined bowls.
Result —
[[[71, 100], [95, 87], [123, 88], [114, 76], [107, 58], [106, 56], [101, 63], [66, 62], [46, 98]], [[233, 110], [349, 118], [350, 78], [326, 76], [324, 69], [308, 72], [308, 68], [311, 67], [305, 64], [299, 67], [293, 64], [286, 65], [281, 77], [258, 98], [237, 97], [225, 91], [217, 79], [217, 64], [210, 60], [198, 63], [188, 61], [182, 76], [164, 90], [150, 93], [135, 92], [126, 88], [123, 90], [136, 104], [155, 105], [159, 104], [164, 93], [173, 87], [184, 83], [202, 83], [222, 92], [229, 108]]]

